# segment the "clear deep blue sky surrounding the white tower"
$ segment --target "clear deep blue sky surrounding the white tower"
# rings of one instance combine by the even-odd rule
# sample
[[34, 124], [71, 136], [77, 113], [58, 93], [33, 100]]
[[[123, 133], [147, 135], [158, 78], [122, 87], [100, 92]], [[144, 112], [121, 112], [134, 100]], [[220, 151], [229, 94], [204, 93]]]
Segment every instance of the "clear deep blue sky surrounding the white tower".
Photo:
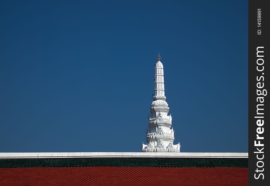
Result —
[[248, 152], [248, 1], [1, 1], [0, 152], [140, 152], [158, 53], [182, 152]]

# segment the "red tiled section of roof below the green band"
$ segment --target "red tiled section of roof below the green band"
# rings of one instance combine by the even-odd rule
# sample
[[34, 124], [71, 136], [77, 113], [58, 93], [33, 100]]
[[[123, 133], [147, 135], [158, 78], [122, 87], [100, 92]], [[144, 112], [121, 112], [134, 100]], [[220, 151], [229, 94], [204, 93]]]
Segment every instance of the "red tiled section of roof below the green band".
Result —
[[0, 185], [248, 185], [247, 167], [0, 168]]

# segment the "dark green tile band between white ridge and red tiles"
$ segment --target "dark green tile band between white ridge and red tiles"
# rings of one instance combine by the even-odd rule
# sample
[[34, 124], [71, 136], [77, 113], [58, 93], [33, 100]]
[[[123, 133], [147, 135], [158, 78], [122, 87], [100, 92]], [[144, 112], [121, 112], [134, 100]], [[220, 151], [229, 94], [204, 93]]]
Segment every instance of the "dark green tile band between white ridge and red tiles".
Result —
[[0, 159], [7, 167], [248, 167], [247, 158], [20, 158]]

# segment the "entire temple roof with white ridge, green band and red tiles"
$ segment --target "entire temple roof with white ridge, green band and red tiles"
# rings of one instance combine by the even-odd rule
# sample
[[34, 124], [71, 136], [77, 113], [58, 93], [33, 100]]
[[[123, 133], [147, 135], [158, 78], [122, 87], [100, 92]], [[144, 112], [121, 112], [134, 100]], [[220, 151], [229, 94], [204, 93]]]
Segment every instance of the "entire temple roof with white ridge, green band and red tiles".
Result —
[[0, 185], [248, 185], [248, 153], [0, 153]]

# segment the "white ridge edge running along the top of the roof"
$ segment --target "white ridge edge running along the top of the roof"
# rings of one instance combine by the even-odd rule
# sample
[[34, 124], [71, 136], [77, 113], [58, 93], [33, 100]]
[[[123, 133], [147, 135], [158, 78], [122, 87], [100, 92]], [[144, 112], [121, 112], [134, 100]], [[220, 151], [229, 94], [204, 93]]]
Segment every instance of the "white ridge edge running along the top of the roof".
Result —
[[0, 159], [7, 158], [78, 158], [78, 157], [182, 157], [182, 158], [248, 158], [248, 153], [0, 153]]

